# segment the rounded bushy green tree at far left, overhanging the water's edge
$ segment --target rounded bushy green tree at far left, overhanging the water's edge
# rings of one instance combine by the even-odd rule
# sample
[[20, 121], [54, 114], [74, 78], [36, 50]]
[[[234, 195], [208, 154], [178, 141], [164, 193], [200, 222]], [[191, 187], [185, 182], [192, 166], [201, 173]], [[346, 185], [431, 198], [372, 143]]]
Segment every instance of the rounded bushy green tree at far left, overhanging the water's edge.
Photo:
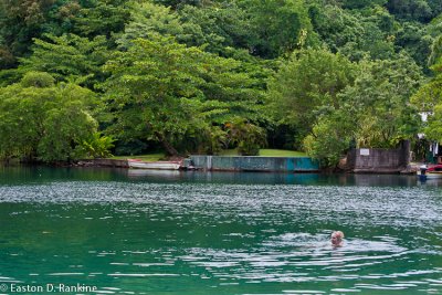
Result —
[[0, 156], [66, 161], [87, 156], [93, 137], [94, 93], [73, 84], [54, 84], [48, 73], [30, 72], [0, 92]]

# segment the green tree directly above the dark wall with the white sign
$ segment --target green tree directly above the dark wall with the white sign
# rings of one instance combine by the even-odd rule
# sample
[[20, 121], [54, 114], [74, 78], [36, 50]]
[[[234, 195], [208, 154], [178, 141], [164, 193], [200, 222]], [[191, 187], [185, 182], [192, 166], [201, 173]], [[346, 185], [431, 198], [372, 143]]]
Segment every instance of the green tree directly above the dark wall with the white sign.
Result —
[[391, 148], [413, 138], [420, 117], [410, 98], [423, 80], [419, 66], [401, 54], [398, 60], [366, 63], [361, 69], [355, 85], [341, 94], [358, 117], [357, 146]]

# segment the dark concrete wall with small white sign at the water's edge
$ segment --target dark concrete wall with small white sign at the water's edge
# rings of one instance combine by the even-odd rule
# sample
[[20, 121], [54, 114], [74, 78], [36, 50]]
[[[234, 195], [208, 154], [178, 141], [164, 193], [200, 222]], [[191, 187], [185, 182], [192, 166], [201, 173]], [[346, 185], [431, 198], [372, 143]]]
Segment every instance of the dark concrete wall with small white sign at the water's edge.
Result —
[[352, 172], [401, 172], [410, 162], [410, 143], [402, 141], [397, 149], [351, 149], [347, 155], [347, 168]]

